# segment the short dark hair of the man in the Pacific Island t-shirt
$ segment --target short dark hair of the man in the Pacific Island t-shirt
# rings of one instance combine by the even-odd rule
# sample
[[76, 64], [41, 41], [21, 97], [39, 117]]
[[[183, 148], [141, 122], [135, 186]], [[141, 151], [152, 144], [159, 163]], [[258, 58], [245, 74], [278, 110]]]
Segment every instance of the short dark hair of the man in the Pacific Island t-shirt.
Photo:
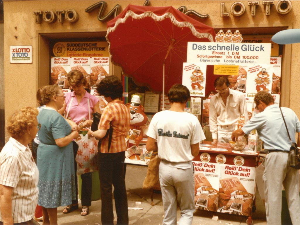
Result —
[[174, 84], [168, 92], [168, 99], [171, 103], [186, 103], [190, 99], [190, 91], [182, 84]]

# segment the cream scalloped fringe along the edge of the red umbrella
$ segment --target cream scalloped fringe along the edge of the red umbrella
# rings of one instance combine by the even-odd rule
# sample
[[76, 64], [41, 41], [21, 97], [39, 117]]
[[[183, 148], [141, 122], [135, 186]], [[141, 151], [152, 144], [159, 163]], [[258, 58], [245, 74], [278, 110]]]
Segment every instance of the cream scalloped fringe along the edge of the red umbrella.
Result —
[[176, 18], [174, 17], [174, 15], [172, 13], [165, 13], [162, 16], [158, 16], [155, 13], [150, 12], [150, 11], [142, 13], [142, 14], [136, 14], [133, 11], [128, 10], [128, 12], [125, 14], [124, 18], [117, 19], [117, 21], [115, 23], [115, 26], [107, 28], [106, 40], [108, 41], [109, 44], [110, 44], [110, 41], [108, 39], [108, 34], [110, 32], [113, 32], [120, 23], [124, 23], [126, 21], [126, 19], [128, 19], [128, 17], [132, 17], [134, 19], [143, 19], [145, 17], [151, 17], [152, 19], [154, 19], [156, 21], [162, 21], [162, 20], [164, 20], [166, 18], [169, 18], [175, 26], [190, 28], [192, 34], [195, 37], [197, 37], [197, 38], [207, 38], [209, 41], [214, 42], [214, 38], [213, 38], [213, 36], [210, 33], [200, 33], [200, 32], [198, 32], [195, 29], [195, 27], [193, 26], [193, 24], [191, 24], [190, 22], [179, 22], [179, 21], [177, 21]]

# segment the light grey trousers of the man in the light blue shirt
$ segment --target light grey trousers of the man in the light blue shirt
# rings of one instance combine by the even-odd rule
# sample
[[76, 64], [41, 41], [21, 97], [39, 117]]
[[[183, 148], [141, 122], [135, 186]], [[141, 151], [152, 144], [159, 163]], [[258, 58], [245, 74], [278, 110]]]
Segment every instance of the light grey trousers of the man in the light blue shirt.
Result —
[[299, 171], [289, 166], [288, 152], [268, 153], [264, 166], [267, 224], [281, 225], [282, 184], [292, 224], [300, 224]]

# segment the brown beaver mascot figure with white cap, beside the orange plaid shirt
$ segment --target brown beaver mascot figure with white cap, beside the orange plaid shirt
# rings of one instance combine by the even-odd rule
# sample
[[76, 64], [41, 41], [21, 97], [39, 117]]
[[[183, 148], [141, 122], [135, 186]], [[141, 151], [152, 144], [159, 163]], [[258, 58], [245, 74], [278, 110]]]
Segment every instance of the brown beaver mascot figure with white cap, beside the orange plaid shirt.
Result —
[[[132, 96], [131, 103], [127, 103], [126, 106], [130, 111], [130, 129], [140, 130], [140, 126], [145, 125], [148, 121], [148, 117], [144, 113], [144, 107], [141, 105], [140, 96]], [[139, 137], [135, 139], [136, 146], [139, 145], [142, 139], [143, 130], [141, 130]]]

